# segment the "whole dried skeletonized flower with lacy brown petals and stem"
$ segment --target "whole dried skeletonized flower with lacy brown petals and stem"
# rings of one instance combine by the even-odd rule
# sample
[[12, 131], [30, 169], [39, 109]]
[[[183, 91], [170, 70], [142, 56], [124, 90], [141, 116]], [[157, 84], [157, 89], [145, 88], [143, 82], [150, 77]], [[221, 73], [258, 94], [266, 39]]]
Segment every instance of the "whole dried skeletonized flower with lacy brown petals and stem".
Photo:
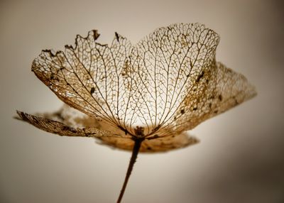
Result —
[[199, 23], [158, 28], [136, 45], [118, 33], [111, 45], [97, 38], [90, 31], [64, 52], [43, 50], [32, 70], [66, 105], [53, 114], [17, 113], [50, 133], [132, 150], [118, 202], [139, 151], [197, 143], [185, 131], [256, 95], [244, 75], [216, 62], [219, 35]]

